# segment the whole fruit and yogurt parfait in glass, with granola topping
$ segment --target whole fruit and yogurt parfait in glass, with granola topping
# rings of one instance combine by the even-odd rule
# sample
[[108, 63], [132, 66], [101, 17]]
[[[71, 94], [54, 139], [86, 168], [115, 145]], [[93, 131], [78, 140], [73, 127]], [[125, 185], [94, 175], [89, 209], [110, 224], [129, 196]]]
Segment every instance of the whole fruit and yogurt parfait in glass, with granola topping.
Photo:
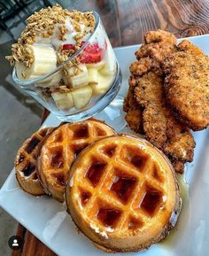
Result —
[[68, 11], [58, 4], [27, 19], [6, 58], [14, 66], [14, 81], [59, 117], [97, 104], [96, 112], [104, 108], [108, 103], [99, 102], [120, 72], [97, 12]]

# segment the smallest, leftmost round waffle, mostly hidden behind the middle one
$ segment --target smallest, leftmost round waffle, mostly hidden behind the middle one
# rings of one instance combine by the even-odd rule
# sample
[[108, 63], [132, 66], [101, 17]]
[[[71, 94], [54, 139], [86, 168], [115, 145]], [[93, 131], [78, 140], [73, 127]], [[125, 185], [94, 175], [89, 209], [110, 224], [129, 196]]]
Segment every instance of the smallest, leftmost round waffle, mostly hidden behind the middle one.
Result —
[[40, 196], [44, 194], [43, 186], [37, 176], [37, 157], [43, 141], [50, 135], [53, 128], [38, 130], [19, 148], [14, 161], [16, 178], [19, 186], [27, 193]]

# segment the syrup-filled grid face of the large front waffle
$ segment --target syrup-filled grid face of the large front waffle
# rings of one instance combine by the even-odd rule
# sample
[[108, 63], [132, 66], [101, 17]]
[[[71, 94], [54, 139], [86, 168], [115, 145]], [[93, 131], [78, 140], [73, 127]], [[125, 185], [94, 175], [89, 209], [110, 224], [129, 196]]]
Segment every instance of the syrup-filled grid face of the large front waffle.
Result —
[[[98, 177], [92, 171], [95, 167]], [[114, 229], [138, 229], [159, 214], [166, 196], [165, 177], [143, 151], [114, 143], [104, 149], [98, 145], [89, 163], [80, 168], [76, 188], [89, 220]]]

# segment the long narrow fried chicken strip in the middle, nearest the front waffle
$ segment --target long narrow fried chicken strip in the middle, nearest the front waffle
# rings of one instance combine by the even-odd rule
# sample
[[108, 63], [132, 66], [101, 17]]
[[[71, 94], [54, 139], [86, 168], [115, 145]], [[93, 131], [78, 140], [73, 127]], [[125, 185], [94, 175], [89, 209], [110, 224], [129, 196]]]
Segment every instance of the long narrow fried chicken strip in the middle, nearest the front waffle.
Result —
[[135, 87], [135, 97], [143, 105], [143, 129], [146, 138], [170, 159], [193, 159], [195, 143], [189, 128], [174, 119], [164, 99], [163, 79], [154, 72], [143, 74]]

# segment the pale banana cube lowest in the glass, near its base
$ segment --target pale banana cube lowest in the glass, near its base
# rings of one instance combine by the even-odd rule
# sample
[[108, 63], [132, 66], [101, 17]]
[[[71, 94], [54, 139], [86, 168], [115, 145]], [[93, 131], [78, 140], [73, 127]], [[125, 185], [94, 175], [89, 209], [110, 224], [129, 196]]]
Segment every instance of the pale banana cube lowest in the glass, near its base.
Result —
[[53, 97], [58, 109], [67, 110], [74, 106], [74, 99], [71, 92], [52, 92]]

